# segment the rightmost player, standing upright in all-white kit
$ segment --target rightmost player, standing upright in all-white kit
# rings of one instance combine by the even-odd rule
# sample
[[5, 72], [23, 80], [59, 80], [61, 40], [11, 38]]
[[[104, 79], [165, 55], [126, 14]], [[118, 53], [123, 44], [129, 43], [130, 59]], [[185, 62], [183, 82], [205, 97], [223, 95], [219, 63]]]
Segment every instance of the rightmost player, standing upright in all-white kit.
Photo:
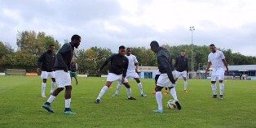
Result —
[[226, 67], [227, 73], [229, 72], [227, 67], [227, 62], [223, 52], [216, 50], [216, 47], [214, 44], [210, 45], [210, 51], [211, 53], [208, 55], [208, 65], [205, 70], [205, 75], [207, 75], [210, 65], [212, 65], [213, 70], [211, 75], [211, 86], [214, 92], [213, 98], [217, 98], [216, 81], [218, 80], [219, 90], [220, 90], [219, 99], [223, 100], [223, 92], [224, 92], [223, 80], [224, 80], [225, 67]]

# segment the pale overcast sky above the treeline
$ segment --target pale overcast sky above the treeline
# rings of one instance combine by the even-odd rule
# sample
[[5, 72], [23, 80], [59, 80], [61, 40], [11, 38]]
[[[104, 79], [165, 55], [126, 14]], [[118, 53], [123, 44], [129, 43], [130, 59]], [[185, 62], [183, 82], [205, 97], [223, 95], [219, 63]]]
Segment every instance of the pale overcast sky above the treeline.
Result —
[[120, 45], [214, 43], [256, 56], [254, 0], [0, 0], [0, 41], [16, 46], [18, 32], [46, 32], [64, 44], [82, 36], [79, 49]]

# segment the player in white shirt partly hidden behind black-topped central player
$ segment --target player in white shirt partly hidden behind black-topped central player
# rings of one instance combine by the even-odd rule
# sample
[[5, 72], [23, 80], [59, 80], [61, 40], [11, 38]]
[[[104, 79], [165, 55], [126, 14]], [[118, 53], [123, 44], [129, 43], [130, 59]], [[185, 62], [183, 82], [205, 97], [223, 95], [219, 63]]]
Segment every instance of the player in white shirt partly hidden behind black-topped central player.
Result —
[[[140, 82], [139, 75], [137, 74], [138, 69], [139, 69], [138, 60], [135, 55], [131, 54], [130, 48], [126, 49], [126, 58], [128, 58], [128, 60], [129, 60], [129, 65], [128, 65], [128, 69], [127, 69], [127, 73], [126, 73], [126, 79], [129, 79], [129, 78], [135, 79], [136, 82], [138, 83], [140, 95], [143, 97], [147, 97], [147, 95], [145, 93], [143, 93], [142, 83]], [[117, 91], [113, 96], [118, 95], [118, 92], [121, 88], [121, 84], [122, 83], [117, 84]]]

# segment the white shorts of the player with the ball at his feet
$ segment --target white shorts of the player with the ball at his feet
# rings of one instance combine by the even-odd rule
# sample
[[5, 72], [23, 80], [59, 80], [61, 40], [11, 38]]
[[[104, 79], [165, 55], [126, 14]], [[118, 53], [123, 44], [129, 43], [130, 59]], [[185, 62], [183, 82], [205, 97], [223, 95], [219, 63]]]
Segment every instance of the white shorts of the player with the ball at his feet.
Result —
[[[172, 72], [175, 78], [175, 71]], [[157, 86], [160, 87], [175, 87], [176, 84], [170, 82], [167, 74], [161, 74], [157, 79]]]

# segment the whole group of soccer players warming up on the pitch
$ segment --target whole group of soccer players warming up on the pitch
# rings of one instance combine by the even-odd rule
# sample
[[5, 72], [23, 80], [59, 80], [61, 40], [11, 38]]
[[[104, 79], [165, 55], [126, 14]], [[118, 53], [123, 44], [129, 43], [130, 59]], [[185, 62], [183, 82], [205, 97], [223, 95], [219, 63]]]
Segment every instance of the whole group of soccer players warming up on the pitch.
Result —
[[[73, 73], [76, 73], [77, 65], [73, 62], [73, 49], [77, 48], [80, 45], [81, 36], [73, 35], [71, 38], [71, 42], [63, 45], [60, 51], [55, 55], [54, 53], [54, 45], [50, 45], [48, 51], [42, 54], [42, 56], [38, 59], [38, 71], [42, 70], [42, 97], [45, 96], [45, 87], [46, 87], [46, 79], [51, 78], [51, 96], [46, 100], [46, 103], [42, 105], [42, 108], [46, 109], [50, 113], [54, 113], [53, 109], [51, 109], [51, 102], [55, 100], [55, 97], [58, 96], [60, 92], [62, 92], [65, 88], [65, 109], [64, 114], [74, 114], [74, 112], [70, 109], [71, 103], [71, 91], [72, 84], [71, 79]], [[177, 79], [181, 76], [184, 80], [184, 92], [188, 93], [187, 87], [187, 74], [188, 74], [188, 58], [185, 58], [185, 52], [181, 52], [181, 56], [176, 58], [175, 65], [173, 66], [172, 58], [170, 57], [170, 52], [163, 47], [160, 47], [157, 41], [152, 41], [150, 43], [151, 49], [154, 53], [157, 53], [157, 75], [156, 75], [156, 87], [155, 94], [158, 108], [153, 110], [156, 113], [163, 113], [162, 107], [162, 94], [161, 89], [163, 87], [168, 87], [170, 90], [170, 95], [173, 96], [175, 104], [177, 105], [177, 109], [182, 109], [182, 106], [179, 103], [175, 86]], [[213, 98], [217, 98], [217, 86], [216, 81], [219, 80], [220, 83], [220, 99], [223, 99], [223, 78], [225, 67], [227, 68], [227, 62], [223, 55], [223, 52], [216, 50], [215, 46], [210, 45], [211, 53], [208, 57], [208, 66], [205, 71], [210, 68], [210, 65], [213, 66], [212, 72], [212, 89], [214, 92]], [[133, 78], [138, 83], [139, 91], [141, 96], [147, 97], [147, 95], [143, 92], [142, 83], [139, 80], [138, 70], [139, 64], [135, 55], [131, 54], [131, 49], [126, 48], [121, 45], [119, 47], [118, 53], [114, 53], [111, 55], [104, 64], [99, 68], [98, 73], [101, 74], [104, 66], [111, 62], [107, 82], [102, 87], [99, 92], [99, 96], [95, 100], [95, 104], [99, 104], [102, 96], [111, 86], [114, 81], [117, 81], [117, 91], [113, 94], [113, 96], [117, 96], [118, 92], [121, 88], [121, 85], [124, 84], [127, 90], [128, 100], [136, 100], [135, 97], [131, 96], [131, 88], [130, 83], [128, 82], [129, 78]], [[225, 67], [224, 67], [225, 66]], [[71, 74], [69, 74], [71, 72]], [[76, 74], [75, 74], [76, 75]], [[71, 77], [70, 77], [71, 76]], [[77, 77], [75, 77], [77, 81]], [[58, 87], [55, 89], [55, 82]], [[55, 89], [55, 90], [54, 90]]]

